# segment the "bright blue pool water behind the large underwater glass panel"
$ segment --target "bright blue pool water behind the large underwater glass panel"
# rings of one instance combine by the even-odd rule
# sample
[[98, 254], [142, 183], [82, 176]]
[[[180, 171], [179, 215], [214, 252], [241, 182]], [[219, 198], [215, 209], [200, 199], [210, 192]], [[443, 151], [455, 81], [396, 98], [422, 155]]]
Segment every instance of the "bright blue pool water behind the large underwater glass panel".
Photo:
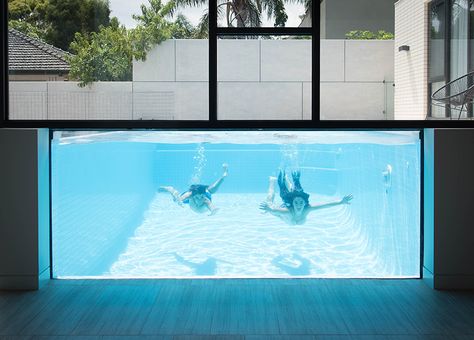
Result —
[[[157, 190], [223, 163], [213, 216]], [[313, 205], [354, 198], [288, 225], [259, 209], [279, 169]], [[52, 204], [59, 278], [420, 275], [418, 132], [56, 132]]]

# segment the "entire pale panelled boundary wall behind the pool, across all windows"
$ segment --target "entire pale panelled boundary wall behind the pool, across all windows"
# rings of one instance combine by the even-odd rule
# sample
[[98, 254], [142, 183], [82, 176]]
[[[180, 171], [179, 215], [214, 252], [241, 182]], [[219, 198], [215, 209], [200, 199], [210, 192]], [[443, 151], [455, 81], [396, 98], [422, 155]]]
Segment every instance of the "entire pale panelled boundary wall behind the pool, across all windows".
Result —
[[[321, 41], [323, 119], [393, 118], [393, 41]], [[133, 82], [10, 82], [11, 119], [207, 120], [208, 41], [169, 40]], [[311, 119], [310, 40], [219, 40], [220, 119]]]

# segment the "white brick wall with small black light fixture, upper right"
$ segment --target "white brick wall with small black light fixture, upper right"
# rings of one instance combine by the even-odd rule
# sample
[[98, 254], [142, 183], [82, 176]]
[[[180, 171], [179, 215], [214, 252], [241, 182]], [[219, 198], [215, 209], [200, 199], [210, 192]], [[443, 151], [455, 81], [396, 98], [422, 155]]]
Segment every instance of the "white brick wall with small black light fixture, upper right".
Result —
[[[402, 45], [409, 51], [398, 51]], [[395, 4], [395, 117], [423, 120], [428, 100], [428, 10], [422, 0]]]

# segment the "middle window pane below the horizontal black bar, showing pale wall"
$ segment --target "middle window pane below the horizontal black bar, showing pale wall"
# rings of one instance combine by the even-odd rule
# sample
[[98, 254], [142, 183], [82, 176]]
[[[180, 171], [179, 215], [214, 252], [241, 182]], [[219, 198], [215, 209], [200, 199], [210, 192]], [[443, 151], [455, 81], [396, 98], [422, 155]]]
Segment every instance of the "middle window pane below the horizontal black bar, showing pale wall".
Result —
[[310, 37], [217, 42], [218, 119], [311, 119]]

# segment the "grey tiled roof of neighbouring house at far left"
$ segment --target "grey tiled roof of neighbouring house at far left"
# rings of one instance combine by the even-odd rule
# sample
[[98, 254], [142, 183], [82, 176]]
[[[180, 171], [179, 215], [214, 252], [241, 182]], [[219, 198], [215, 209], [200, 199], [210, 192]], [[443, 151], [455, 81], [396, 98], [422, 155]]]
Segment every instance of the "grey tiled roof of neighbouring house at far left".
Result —
[[8, 30], [10, 81], [68, 80], [68, 52], [17, 30]]

